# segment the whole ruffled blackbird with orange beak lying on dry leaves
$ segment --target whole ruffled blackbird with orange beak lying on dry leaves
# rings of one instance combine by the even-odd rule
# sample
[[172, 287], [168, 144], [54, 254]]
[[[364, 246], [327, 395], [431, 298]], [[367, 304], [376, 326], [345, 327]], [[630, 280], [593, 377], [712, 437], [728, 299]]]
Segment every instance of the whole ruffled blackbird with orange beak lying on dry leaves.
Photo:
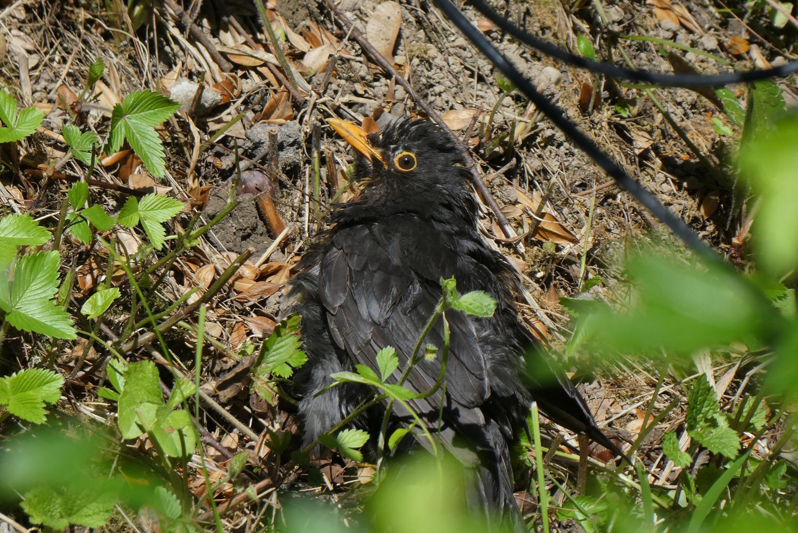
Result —
[[[389, 381], [396, 382], [440, 300], [441, 278], [454, 276], [460, 294], [483, 290], [496, 299], [496, 311], [492, 318], [446, 312], [445, 394], [410, 403], [440, 432], [445, 448], [476, 472], [483, 504], [518, 515], [510, 446], [532, 401], [551, 420], [620, 454], [564, 373], [530, 352], [537, 343], [516, 309], [519, 278], [480, 238], [468, 170], [452, 136], [426, 120], [397, 120], [371, 135], [343, 120], [328, 122], [360, 152], [354, 179], [365, 185], [357, 199], [334, 206], [330, 229], [302, 257], [292, 286], [308, 355], [297, 377], [305, 444], [368, 393], [346, 385], [318, 394], [332, 383], [330, 374], [355, 364], [376, 370], [377, 352], [393, 346], [400, 366]], [[440, 348], [442, 335], [439, 321], [425, 342]], [[528, 367], [525, 353], [536, 359]], [[428, 391], [440, 358], [415, 365], [405, 386]], [[397, 424], [409, 420], [407, 414], [394, 407]]]

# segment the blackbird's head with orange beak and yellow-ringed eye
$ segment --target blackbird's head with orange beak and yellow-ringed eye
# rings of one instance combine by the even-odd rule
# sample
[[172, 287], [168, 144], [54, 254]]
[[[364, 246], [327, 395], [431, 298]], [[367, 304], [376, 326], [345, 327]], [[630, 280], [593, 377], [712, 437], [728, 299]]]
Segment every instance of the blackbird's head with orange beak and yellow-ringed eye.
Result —
[[397, 120], [372, 134], [345, 120], [327, 122], [359, 152], [354, 180], [364, 186], [366, 198], [419, 202], [467, 191], [468, 172], [456, 140], [429, 120]]

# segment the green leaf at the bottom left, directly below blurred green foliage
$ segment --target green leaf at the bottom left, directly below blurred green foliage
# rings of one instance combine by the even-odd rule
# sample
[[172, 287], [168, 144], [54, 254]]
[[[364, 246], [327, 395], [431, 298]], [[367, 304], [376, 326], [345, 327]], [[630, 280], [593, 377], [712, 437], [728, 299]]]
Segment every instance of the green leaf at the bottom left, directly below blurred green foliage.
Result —
[[41, 523], [61, 531], [70, 524], [85, 527], [102, 527], [108, 522], [117, 504], [114, 492], [92, 488], [74, 490], [37, 487], [26, 492], [22, 508], [30, 515], [32, 523]]

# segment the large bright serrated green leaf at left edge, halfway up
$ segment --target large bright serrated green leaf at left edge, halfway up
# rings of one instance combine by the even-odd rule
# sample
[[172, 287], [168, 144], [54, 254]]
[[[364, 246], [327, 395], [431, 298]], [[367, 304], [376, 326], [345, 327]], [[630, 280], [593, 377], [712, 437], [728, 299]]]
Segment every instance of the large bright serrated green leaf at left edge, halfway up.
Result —
[[58, 289], [57, 251], [23, 255], [14, 267], [14, 282], [0, 273], [0, 308], [18, 330], [57, 338], [75, 338], [72, 318], [53, 300]]

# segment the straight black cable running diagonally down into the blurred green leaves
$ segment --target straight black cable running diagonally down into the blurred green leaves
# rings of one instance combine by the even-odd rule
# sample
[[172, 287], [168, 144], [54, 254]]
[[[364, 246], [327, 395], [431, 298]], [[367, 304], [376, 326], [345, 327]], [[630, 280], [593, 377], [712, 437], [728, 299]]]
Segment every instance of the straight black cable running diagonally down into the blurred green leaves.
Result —
[[668, 211], [667, 207], [662, 205], [654, 195], [646, 191], [641, 184], [626, 174], [620, 165], [615, 163], [610, 156], [602, 152], [601, 148], [581, 132], [579, 128], [572, 124], [559, 108], [552, 104], [543, 94], [539, 93], [537, 89], [535, 89], [535, 87], [504, 58], [504, 56], [493, 48], [491, 43], [488, 42], [488, 39], [484, 38], [480, 30], [473, 26], [472, 23], [468, 21], [468, 18], [465, 18], [452, 2], [449, 2], [449, 0], [433, 0], [433, 2], [435, 2], [440, 10], [442, 10], [452, 22], [454, 22], [455, 26], [465, 34], [468, 40], [471, 41], [480, 52], [484, 53], [493, 65], [496, 65], [496, 68], [499, 69], [504, 76], [508, 77], [508, 80], [510, 80], [513, 85], [516, 85], [521, 93], [523, 93], [537, 109], [548, 116], [563, 133], [571, 138], [577, 148], [587, 153], [604, 172], [614, 178], [615, 183], [618, 184], [620, 188], [633, 195], [639, 203], [642, 203], [642, 205], [654, 215], [654, 217], [669, 227], [670, 231], [672, 231], [682, 243], [685, 243], [687, 247], [702, 257], [717, 261], [718, 258], [715, 252], [712, 251], [704, 241], [699, 239], [698, 235], [696, 235], [687, 224]]

